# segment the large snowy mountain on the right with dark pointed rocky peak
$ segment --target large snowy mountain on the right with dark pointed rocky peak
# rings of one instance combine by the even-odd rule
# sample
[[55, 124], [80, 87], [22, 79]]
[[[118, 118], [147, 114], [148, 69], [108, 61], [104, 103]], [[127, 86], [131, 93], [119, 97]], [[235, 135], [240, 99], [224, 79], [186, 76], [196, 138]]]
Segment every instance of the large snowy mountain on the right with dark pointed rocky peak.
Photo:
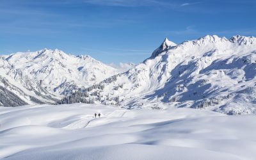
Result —
[[253, 36], [207, 35], [178, 45], [166, 38], [143, 63], [88, 91], [95, 102], [125, 108], [160, 109], [166, 103], [246, 114], [256, 113], [255, 76]]

